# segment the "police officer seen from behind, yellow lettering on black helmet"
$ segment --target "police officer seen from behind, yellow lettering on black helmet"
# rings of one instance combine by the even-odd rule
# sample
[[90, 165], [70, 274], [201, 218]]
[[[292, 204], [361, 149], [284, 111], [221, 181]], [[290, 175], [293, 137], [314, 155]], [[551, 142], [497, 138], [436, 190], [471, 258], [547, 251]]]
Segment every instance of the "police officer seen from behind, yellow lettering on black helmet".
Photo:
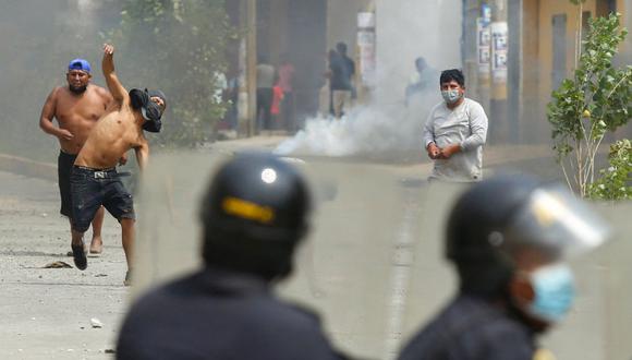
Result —
[[278, 300], [307, 230], [308, 189], [289, 164], [238, 155], [203, 199], [204, 269], [137, 301], [117, 359], [341, 359], [318, 319]]

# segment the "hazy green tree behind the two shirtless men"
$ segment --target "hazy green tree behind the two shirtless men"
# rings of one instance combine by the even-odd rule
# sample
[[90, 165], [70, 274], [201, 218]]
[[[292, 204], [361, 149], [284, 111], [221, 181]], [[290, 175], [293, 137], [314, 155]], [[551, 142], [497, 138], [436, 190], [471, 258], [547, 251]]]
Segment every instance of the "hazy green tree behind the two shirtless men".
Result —
[[167, 94], [161, 143], [198, 145], [226, 111], [217, 94], [235, 33], [224, 9], [223, 0], [122, 0], [121, 25], [109, 36], [137, 64], [126, 86]]

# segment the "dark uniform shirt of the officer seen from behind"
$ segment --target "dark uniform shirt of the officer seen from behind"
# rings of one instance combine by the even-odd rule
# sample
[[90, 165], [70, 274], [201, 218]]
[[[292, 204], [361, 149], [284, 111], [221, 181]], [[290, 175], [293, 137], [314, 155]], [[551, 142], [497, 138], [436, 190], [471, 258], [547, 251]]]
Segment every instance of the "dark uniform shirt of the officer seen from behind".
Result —
[[274, 298], [263, 279], [205, 269], [137, 301], [117, 359], [338, 359], [318, 319]]

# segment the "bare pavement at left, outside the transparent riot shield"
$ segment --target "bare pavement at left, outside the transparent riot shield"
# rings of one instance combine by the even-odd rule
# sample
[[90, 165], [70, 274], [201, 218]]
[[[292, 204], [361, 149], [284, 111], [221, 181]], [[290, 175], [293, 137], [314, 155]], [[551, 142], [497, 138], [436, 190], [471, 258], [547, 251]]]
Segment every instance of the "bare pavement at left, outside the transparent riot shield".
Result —
[[0, 184], [0, 358], [109, 359], [127, 293], [118, 224], [107, 215], [104, 254], [85, 272], [42, 268], [73, 264], [57, 184], [8, 172]]

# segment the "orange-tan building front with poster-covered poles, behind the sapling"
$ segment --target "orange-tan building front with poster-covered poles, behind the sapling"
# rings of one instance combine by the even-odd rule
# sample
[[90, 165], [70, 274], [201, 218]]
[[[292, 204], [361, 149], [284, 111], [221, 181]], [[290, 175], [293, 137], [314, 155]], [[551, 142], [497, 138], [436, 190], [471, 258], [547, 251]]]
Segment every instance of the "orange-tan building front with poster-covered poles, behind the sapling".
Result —
[[[549, 142], [546, 105], [551, 92], [573, 74], [578, 29], [585, 35], [588, 19], [610, 12], [621, 13], [621, 24], [630, 28], [630, 7], [629, 0], [586, 0], [581, 8], [569, 0], [465, 0], [464, 65], [472, 92], [490, 112], [491, 141]], [[491, 25], [500, 23], [506, 28], [507, 47], [501, 50], [505, 74], [500, 80], [494, 74], [498, 59], [493, 29], [486, 35], [488, 49], [482, 49], [481, 33], [485, 31], [481, 22], [486, 12]], [[489, 51], [487, 63], [482, 61], [485, 51]], [[632, 39], [628, 38], [617, 64], [631, 63], [631, 51]]]

